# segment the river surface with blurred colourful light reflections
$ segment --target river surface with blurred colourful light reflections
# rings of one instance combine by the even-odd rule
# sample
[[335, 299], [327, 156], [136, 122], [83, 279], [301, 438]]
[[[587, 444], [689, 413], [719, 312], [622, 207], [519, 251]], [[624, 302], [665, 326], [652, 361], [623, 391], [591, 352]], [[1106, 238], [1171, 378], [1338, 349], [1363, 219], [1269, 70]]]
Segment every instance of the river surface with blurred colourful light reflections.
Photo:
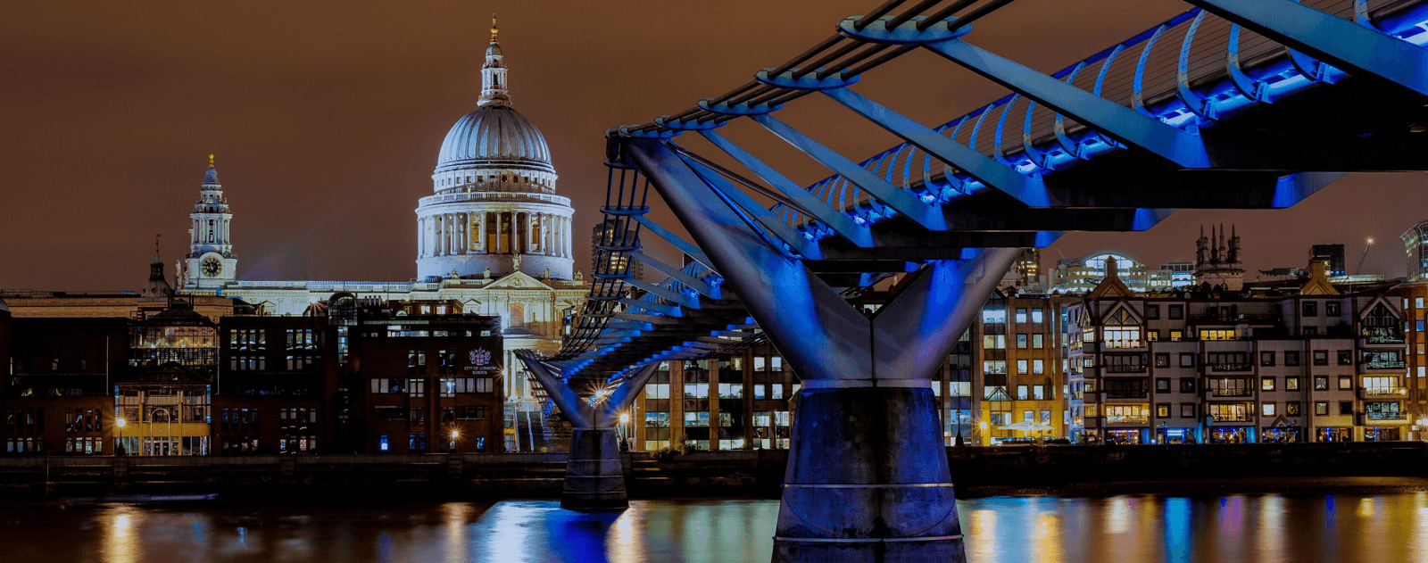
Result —
[[[958, 502], [968, 559], [1425, 562], [1428, 492]], [[767, 562], [774, 500], [0, 509], [0, 560]]]

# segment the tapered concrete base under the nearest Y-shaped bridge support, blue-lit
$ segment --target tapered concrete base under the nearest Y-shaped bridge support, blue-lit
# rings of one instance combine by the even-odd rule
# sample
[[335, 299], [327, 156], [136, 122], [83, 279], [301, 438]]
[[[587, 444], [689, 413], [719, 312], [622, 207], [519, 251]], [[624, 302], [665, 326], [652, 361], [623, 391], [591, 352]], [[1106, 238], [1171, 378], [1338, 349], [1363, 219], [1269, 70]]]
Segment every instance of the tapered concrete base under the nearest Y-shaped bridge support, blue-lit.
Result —
[[930, 382], [830, 383], [800, 390], [773, 560], [964, 562]]

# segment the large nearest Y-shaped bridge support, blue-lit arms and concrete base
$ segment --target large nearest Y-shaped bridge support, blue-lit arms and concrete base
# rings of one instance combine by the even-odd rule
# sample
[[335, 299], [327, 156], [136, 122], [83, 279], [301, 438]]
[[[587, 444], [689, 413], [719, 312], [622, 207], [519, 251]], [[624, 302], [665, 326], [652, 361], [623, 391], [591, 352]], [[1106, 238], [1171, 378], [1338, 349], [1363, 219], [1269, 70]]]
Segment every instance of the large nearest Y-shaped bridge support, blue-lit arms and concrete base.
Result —
[[930, 379], [1020, 249], [930, 260], [865, 316], [751, 230], [708, 169], [621, 143], [803, 380], [774, 560], [964, 560]]

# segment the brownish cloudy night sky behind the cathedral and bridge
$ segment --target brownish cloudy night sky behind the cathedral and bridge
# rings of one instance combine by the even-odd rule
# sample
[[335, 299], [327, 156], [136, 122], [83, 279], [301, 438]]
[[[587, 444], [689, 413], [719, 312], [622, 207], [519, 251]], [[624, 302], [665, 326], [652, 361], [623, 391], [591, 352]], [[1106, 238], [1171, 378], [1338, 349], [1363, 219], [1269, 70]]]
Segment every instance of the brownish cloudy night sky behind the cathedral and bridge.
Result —
[[[170, 266], [207, 154], [234, 210], [243, 279], [406, 280], [417, 199], [447, 129], [476, 106], [500, 13], [514, 104], [551, 144], [587, 244], [604, 197], [603, 131], [675, 113], [827, 37], [878, 0], [9, 1], [0, 4], [0, 287], [137, 290], [154, 233]], [[1022, 0], [972, 43], [1044, 71], [1154, 26], [1172, 0]], [[858, 90], [924, 123], [1004, 94], [914, 51]], [[781, 119], [861, 160], [894, 139], [817, 96]], [[728, 136], [800, 181], [825, 173], [751, 123]], [[700, 150], [700, 143], [688, 143]], [[710, 153], [710, 151], [705, 151]], [[1402, 276], [1422, 176], [1349, 176], [1291, 210], [1181, 211], [1147, 233], [1070, 234], [1065, 256], [1194, 254], [1200, 223], [1238, 223], [1247, 266], [1302, 266], [1312, 243], [1379, 244]], [[664, 216], [665, 223], [673, 223]], [[584, 254], [584, 253], [581, 253]], [[1055, 250], [1047, 251], [1054, 263]], [[588, 256], [575, 267], [588, 271]], [[1250, 276], [1254, 277], [1252, 274]]]

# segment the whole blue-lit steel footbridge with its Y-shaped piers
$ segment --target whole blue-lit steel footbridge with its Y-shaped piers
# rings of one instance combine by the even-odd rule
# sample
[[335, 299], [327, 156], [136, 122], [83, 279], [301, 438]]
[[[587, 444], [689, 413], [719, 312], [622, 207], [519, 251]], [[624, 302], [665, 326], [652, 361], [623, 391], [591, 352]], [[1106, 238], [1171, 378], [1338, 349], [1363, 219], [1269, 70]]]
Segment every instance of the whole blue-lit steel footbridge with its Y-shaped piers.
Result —
[[[625, 504], [615, 413], [654, 366], [767, 339], [803, 382], [773, 559], [961, 562], [930, 377], [1020, 249], [1147, 230], [1177, 209], [1289, 207], [1352, 171], [1428, 170], [1425, 0], [1185, 0], [1051, 74], [975, 44], [975, 23], [1011, 1], [890, 0], [825, 23], [827, 40], [745, 84], [605, 133], [613, 229], [590, 299], [557, 354], [521, 357], [575, 426], [564, 506]], [[928, 126], [857, 91], [918, 49], [1011, 94]], [[847, 109], [824, 120], [902, 143], [858, 161], [775, 117], [807, 96]], [[831, 176], [794, 183], [720, 134], [740, 119]], [[681, 230], [650, 219], [655, 201]], [[685, 263], [648, 256], [651, 234]], [[668, 279], [637, 280], [633, 261]], [[875, 314], [848, 303], [878, 284], [890, 297]]]

